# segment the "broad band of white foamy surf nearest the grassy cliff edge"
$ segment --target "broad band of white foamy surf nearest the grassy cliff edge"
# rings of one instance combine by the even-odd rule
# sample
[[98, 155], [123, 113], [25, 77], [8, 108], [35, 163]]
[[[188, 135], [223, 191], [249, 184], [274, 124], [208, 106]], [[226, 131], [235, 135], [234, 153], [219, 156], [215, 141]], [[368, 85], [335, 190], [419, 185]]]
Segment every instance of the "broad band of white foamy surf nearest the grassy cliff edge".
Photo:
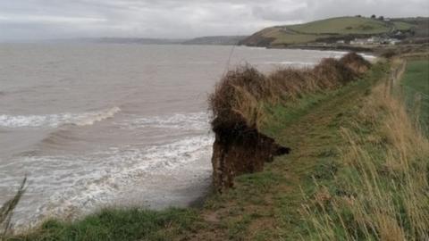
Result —
[[[206, 160], [204, 171], [209, 175], [213, 141], [212, 135], [200, 135], [144, 148], [122, 146], [85, 155], [21, 157], [11, 165], [13, 169], [29, 170], [31, 186], [27, 195], [46, 198], [38, 202], [29, 200], [28, 204], [24, 200], [16, 210], [15, 228], [37, 225], [46, 217], [78, 217], [94, 211], [110, 204], [118, 191], [147, 173], [168, 175], [181, 165]], [[19, 182], [18, 178], [8, 179], [3, 168], [0, 174], [5, 177], [0, 188]]]

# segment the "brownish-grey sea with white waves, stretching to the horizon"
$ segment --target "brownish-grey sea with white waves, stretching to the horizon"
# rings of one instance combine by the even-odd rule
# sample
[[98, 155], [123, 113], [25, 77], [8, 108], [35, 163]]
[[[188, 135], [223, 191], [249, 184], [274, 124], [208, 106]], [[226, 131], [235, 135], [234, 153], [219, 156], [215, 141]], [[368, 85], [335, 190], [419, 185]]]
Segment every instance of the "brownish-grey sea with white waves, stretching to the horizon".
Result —
[[245, 46], [0, 44], [0, 204], [13, 225], [188, 206], [211, 184], [207, 96], [226, 71], [344, 53]]

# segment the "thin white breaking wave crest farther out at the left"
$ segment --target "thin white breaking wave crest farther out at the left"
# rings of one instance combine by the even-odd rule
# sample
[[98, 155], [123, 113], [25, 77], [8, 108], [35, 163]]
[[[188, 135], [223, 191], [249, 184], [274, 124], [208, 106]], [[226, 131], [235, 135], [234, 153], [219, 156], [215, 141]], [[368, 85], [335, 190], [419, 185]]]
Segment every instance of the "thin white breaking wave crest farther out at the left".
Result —
[[84, 113], [59, 113], [46, 115], [0, 114], [0, 128], [56, 128], [63, 124], [89, 126], [93, 125], [97, 121], [112, 118], [117, 112], [121, 112], [119, 107], [113, 107], [99, 112]]

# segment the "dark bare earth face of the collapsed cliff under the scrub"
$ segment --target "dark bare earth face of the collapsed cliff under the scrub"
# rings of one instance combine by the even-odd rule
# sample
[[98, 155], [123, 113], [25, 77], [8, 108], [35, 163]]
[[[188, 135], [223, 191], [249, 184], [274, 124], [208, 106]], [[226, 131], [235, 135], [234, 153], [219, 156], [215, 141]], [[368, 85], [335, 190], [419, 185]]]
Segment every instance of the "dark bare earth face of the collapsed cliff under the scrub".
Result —
[[265, 162], [273, 157], [289, 154], [290, 149], [277, 145], [257, 129], [241, 123], [232, 129], [214, 129], [213, 180], [218, 192], [233, 187], [234, 177], [264, 170]]

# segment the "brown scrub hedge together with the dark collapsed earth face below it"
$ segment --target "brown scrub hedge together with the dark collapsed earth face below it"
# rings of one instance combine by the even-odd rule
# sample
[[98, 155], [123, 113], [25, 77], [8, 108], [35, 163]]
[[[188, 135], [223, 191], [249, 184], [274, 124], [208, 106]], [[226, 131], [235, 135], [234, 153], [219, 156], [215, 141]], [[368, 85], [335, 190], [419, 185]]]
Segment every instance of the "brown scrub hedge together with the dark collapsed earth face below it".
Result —
[[263, 133], [266, 106], [344, 86], [370, 65], [359, 54], [350, 53], [340, 60], [324, 59], [312, 69], [284, 68], [265, 75], [246, 65], [229, 71], [209, 97], [215, 189], [223, 192], [233, 187], [236, 176], [264, 170], [265, 162], [272, 162], [274, 156], [290, 153], [290, 148]]

